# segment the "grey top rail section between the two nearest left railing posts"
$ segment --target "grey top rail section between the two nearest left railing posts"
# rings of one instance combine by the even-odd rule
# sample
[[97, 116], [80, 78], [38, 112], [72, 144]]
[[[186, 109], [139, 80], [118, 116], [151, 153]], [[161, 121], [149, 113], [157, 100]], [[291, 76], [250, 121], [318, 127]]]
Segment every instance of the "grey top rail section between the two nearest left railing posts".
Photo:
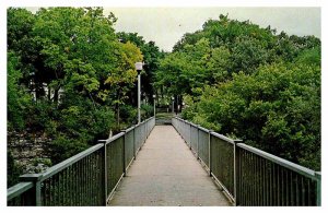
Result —
[[45, 180], [47, 179], [48, 177], [61, 171], [62, 169], [69, 167], [70, 165], [77, 163], [78, 161], [82, 159], [83, 157], [90, 155], [91, 153], [94, 153], [96, 151], [98, 151], [101, 147], [103, 147], [104, 144], [99, 143], [99, 144], [96, 144], [94, 146], [91, 146], [90, 149], [83, 151], [83, 152], [80, 152], [79, 154], [75, 154], [74, 156], [63, 161], [63, 162], [60, 162], [59, 164], [56, 164], [55, 166], [51, 166], [50, 168], [48, 168], [44, 174], [42, 174], [42, 179], [40, 180]]

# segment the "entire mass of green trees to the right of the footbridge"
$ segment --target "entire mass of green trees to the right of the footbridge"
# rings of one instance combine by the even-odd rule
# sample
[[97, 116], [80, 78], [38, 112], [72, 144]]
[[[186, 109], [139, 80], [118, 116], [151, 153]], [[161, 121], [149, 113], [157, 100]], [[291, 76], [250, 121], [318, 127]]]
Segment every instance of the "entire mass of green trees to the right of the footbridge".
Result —
[[320, 169], [320, 40], [209, 20], [160, 61], [156, 86], [183, 117]]

